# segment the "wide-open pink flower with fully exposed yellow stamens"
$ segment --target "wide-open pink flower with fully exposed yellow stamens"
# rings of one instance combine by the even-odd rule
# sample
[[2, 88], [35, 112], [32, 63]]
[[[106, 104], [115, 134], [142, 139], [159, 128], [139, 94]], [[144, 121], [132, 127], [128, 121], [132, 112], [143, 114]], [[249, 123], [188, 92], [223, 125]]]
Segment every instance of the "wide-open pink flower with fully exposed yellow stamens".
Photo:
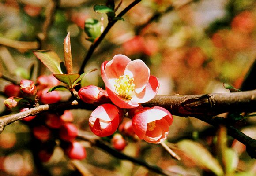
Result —
[[159, 88], [158, 79], [142, 60], [115, 55], [101, 66], [102, 79], [111, 101], [120, 108], [134, 108], [153, 99]]

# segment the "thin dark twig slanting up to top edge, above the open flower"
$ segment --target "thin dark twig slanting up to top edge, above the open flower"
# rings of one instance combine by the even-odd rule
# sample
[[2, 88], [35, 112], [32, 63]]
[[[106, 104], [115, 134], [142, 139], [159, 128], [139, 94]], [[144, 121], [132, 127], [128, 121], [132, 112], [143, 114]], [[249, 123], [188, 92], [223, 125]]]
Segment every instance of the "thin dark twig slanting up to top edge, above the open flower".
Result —
[[[141, 0], [135, 0], [130, 5], [128, 5], [123, 11], [120, 12], [120, 14], [117, 15], [118, 18], [122, 17], [126, 12], [128, 12], [132, 7], [134, 7], [136, 4], [138, 4]], [[117, 20], [110, 21], [106, 28], [104, 29], [103, 33], [100, 35], [98, 40], [96, 40], [93, 44], [90, 45], [90, 48], [87, 52], [87, 55], [83, 59], [83, 63], [80, 67], [79, 74], [82, 74], [84, 72], [84, 67], [86, 66], [88, 60], [92, 56], [94, 50], [98, 47], [98, 45], [102, 42], [106, 34], [109, 32], [109, 30], [112, 28], [112, 26], [117, 22]]]

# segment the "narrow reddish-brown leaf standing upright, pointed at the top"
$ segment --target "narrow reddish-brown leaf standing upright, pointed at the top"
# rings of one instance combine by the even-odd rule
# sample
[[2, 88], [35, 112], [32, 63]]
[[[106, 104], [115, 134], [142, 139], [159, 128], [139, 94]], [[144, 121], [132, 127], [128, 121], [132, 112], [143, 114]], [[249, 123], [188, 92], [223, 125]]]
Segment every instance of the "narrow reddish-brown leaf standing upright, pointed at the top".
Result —
[[67, 37], [64, 39], [63, 43], [63, 50], [64, 50], [64, 59], [65, 65], [68, 74], [72, 74], [72, 55], [71, 55], [71, 46], [70, 46], [70, 34], [68, 32]]

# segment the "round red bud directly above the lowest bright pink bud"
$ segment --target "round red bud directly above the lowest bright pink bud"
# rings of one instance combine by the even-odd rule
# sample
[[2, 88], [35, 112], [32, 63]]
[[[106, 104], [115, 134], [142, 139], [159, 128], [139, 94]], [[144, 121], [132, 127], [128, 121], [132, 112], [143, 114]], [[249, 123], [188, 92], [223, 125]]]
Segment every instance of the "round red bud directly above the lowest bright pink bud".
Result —
[[72, 123], [66, 123], [60, 127], [60, 139], [65, 141], [72, 141], [78, 134], [77, 127]]

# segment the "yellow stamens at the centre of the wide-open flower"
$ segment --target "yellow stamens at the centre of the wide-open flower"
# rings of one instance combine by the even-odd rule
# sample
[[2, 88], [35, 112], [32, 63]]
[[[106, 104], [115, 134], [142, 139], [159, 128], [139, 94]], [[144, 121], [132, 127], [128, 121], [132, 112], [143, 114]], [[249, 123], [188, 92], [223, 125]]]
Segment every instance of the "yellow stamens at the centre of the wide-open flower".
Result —
[[134, 84], [133, 77], [129, 77], [128, 75], [122, 75], [115, 80], [115, 89], [117, 93], [124, 99], [130, 100], [132, 99], [132, 93], [134, 92]]

